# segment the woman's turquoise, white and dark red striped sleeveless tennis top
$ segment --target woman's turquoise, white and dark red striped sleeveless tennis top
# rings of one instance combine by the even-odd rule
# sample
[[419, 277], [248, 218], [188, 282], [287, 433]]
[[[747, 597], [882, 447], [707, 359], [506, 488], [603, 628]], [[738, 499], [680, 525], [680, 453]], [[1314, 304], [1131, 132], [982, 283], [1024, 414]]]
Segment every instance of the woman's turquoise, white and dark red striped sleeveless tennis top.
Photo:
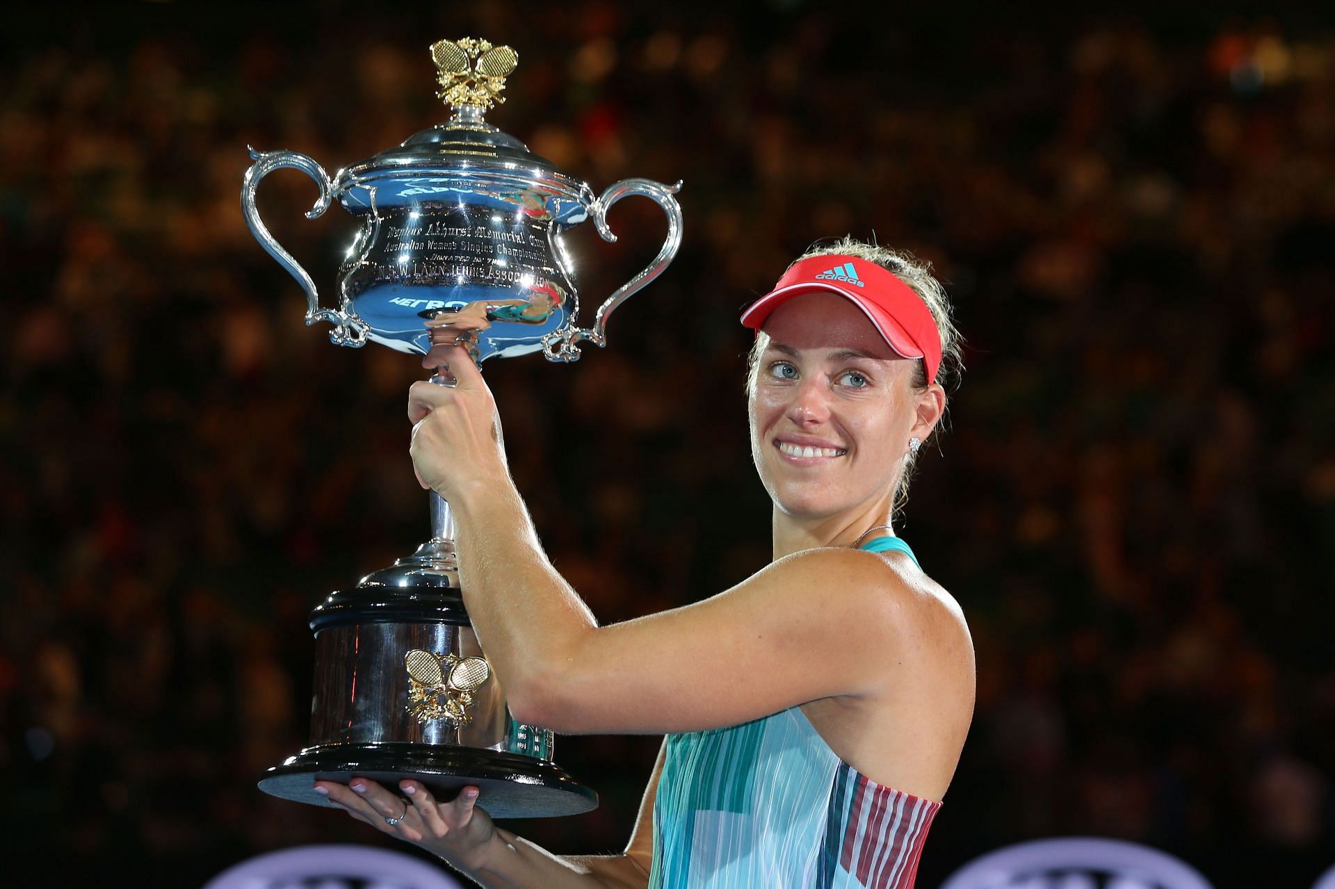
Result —
[[[897, 537], [858, 549], [913, 558]], [[801, 707], [726, 729], [669, 734], [649, 885], [912, 889], [940, 808], [858, 774]]]

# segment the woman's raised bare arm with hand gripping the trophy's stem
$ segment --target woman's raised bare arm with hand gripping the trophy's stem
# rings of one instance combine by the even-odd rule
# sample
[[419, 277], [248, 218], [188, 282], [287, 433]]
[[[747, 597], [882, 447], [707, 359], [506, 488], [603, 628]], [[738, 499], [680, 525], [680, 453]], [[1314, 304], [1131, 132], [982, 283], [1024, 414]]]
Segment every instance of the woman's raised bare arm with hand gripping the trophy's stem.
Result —
[[704, 602], [599, 627], [542, 551], [481, 374], [455, 360], [458, 387], [413, 387], [413, 458], [455, 511], [465, 603], [519, 721], [563, 733], [686, 731], [873, 695], [909, 635], [953, 619], [884, 558], [822, 549]]

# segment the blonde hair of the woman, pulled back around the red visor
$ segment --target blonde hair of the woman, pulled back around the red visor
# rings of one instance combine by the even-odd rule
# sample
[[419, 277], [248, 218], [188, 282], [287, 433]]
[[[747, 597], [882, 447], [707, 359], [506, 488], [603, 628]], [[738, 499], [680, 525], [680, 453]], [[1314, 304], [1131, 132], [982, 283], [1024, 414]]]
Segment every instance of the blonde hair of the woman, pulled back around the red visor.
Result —
[[[960, 375], [964, 371], [964, 350], [961, 347], [964, 338], [955, 327], [953, 308], [951, 306], [951, 299], [945, 295], [945, 287], [943, 287], [941, 282], [932, 275], [932, 263], [921, 260], [905, 250], [893, 250], [890, 247], [881, 247], [880, 244], [868, 244], [866, 242], [844, 236], [830, 244], [813, 244], [805, 254], [789, 263], [789, 268], [804, 259], [810, 259], [812, 256], [828, 256], [832, 254], [857, 256], [858, 259], [865, 259], [869, 263], [876, 263], [908, 284], [913, 292], [917, 294], [924, 303], [926, 303], [928, 310], [932, 312], [932, 319], [936, 322], [936, 331], [941, 336], [941, 364], [936, 371], [936, 382], [940, 383], [947, 391], [953, 391], [960, 384]], [[752, 346], [750, 354], [746, 356], [748, 395], [756, 391], [756, 382], [760, 374], [760, 356], [768, 346], [769, 335], [765, 334], [765, 331], [757, 331], [756, 343]], [[914, 375], [910, 384], [914, 391], [922, 391], [926, 388], [926, 368], [922, 366], [921, 359], [914, 362], [913, 367]], [[943, 416], [941, 422], [932, 430], [932, 435], [936, 435], [936, 430], [941, 428], [944, 423], [945, 416]], [[926, 442], [922, 443], [926, 444]], [[904, 509], [904, 503], [908, 502], [909, 482], [913, 478], [913, 467], [916, 463], [917, 454], [909, 451], [909, 454], [904, 458], [904, 469], [900, 471], [900, 477], [894, 481], [893, 509], [896, 513]]]

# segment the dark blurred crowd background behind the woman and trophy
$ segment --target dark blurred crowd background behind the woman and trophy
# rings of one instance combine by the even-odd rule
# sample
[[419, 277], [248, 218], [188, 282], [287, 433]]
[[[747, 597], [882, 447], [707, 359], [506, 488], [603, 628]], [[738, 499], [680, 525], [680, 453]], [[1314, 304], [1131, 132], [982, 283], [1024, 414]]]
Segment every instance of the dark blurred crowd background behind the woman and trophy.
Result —
[[[606, 350], [486, 368], [598, 617], [766, 562], [737, 311], [814, 239], [874, 234], [936, 264], [968, 338], [898, 523], [979, 663], [920, 885], [1055, 834], [1311, 885], [1335, 864], [1335, 13], [1007, 5], [8, 9], [3, 881], [199, 885], [380, 841], [255, 780], [306, 739], [308, 609], [427, 534], [423, 371], [304, 327], [238, 195], [248, 143], [332, 171], [442, 120], [427, 45], [474, 35], [519, 51], [489, 120], [533, 151], [595, 191], [685, 180], [681, 254]], [[354, 226], [306, 220], [314, 198], [282, 172], [260, 206], [330, 294]], [[649, 202], [611, 224], [571, 236], [586, 307], [662, 238]], [[619, 850], [657, 746], [559, 738], [602, 806], [515, 829]]]

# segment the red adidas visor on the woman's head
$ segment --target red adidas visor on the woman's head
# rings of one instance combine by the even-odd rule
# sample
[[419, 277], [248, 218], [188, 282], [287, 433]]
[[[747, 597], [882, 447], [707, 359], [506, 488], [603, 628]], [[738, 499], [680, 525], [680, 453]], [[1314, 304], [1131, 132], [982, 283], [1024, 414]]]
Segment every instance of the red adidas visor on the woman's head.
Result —
[[889, 270], [858, 256], [824, 254], [794, 263], [774, 290], [742, 312], [742, 324], [758, 331], [770, 312], [792, 298], [821, 290], [852, 300], [876, 324], [890, 348], [904, 358], [921, 358], [926, 382], [936, 382], [941, 334], [932, 310]]

